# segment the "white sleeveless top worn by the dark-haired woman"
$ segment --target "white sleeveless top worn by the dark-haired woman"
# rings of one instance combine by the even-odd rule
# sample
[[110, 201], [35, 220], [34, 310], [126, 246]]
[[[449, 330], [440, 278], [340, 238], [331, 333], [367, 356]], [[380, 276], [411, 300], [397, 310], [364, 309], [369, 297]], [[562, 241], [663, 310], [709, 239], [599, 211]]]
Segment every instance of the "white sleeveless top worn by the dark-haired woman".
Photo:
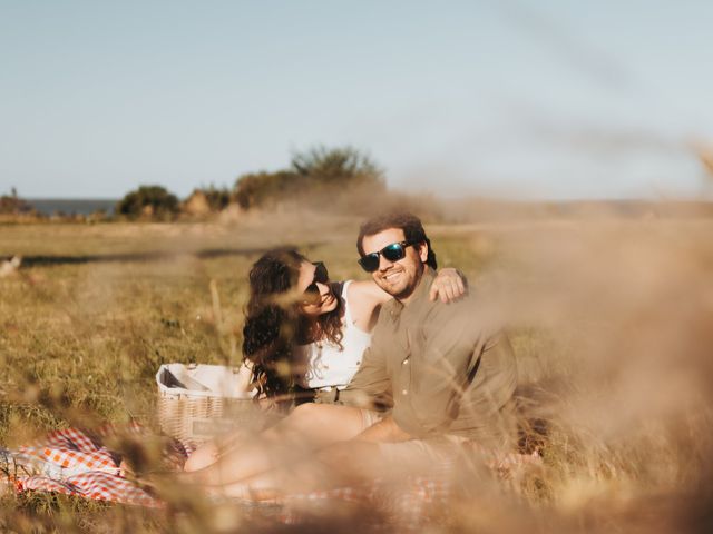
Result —
[[297, 345], [294, 348], [295, 362], [307, 369], [304, 376], [297, 378], [297, 384], [302, 387], [343, 389], [359, 369], [364, 349], [371, 344], [371, 334], [358, 328], [352, 319], [346, 297], [350, 284], [351, 280], [344, 283], [341, 295], [344, 303], [342, 318], [342, 347], [344, 348], [340, 349], [339, 345], [329, 340]]

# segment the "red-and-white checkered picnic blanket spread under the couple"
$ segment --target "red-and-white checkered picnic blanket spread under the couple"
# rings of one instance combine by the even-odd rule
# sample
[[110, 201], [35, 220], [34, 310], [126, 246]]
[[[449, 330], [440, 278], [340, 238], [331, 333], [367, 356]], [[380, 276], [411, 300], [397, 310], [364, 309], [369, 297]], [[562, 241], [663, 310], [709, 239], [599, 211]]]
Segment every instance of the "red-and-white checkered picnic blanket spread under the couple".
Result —
[[[140, 438], [148, 431], [139, 425], [107, 425], [97, 432], [55, 431], [30, 446], [0, 449], [0, 468], [18, 492], [56, 492], [96, 501], [162, 507], [164, 502], [150, 488], [127, 477], [120, 457], [105, 446], [111, 437], [127, 433]], [[169, 446], [165, 447], [164, 454], [168, 464], [178, 471], [192, 451], [175, 439], [167, 443]], [[494, 457], [490, 468], [504, 476], [514, 466], [538, 461], [537, 455], [509, 454]], [[389, 522], [416, 527], [434, 510], [445, 507], [451, 493], [450, 481], [448, 476], [413, 476], [398, 486], [393, 481], [378, 479], [353, 487], [289, 495], [270, 505], [270, 515], [283, 523], [296, 524], [305, 518], [329, 515], [335, 503], [352, 503], [369, 507]], [[260, 512], [260, 506], [253, 506], [252, 511]]]

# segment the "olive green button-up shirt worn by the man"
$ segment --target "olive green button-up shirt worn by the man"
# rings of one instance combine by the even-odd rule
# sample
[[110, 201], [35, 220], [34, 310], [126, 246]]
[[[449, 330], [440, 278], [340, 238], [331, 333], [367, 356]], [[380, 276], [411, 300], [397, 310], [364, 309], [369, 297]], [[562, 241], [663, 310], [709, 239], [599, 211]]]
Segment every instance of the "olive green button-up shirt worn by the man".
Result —
[[431, 303], [433, 277], [427, 267], [406, 306], [392, 299], [382, 307], [345, 400], [392, 407], [413, 437], [455, 434], [502, 445], [517, 380], [510, 344], [476, 295]]

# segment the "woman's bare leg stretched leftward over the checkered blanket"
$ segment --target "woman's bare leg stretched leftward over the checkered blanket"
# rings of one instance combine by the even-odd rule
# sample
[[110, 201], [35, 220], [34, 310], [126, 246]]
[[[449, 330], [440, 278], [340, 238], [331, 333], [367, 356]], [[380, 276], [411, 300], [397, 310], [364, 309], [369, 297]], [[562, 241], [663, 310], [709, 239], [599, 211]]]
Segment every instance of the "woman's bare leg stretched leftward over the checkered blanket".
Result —
[[[275, 426], [241, 443], [207, 467], [188, 474], [187, 482], [226, 485], [282, 465], [291, 465], [316, 449], [351, 439], [369, 424], [360, 408], [303, 404]], [[208, 456], [211, 453], [205, 453]], [[202, 461], [205, 456], [198, 458]], [[195, 465], [199, 465], [196, 462]], [[188, 465], [188, 471], [193, 465]]]

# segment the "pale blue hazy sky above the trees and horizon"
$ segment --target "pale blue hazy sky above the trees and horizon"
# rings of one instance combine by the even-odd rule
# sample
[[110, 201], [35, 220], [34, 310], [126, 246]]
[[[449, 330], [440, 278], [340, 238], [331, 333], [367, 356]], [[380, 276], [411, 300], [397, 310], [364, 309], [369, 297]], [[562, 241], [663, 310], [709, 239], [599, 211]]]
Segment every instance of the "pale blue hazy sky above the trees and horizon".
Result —
[[0, 195], [352, 146], [446, 197], [713, 198], [710, 0], [0, 0]]

